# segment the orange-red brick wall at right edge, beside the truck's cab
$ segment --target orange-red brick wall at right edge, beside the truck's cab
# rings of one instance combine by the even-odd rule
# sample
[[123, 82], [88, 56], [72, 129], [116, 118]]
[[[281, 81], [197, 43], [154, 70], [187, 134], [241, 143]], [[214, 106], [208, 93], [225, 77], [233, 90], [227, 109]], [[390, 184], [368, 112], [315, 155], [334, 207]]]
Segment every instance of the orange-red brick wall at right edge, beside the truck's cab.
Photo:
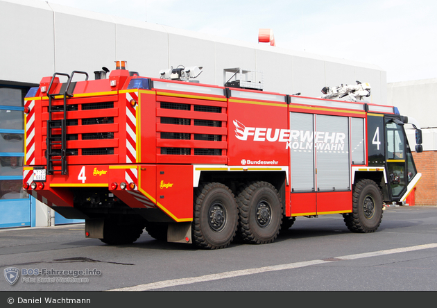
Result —
[[422, 173], [416, 185], [415, 205], [437, 205], [437, 151], [413, 152], [415, 167]]

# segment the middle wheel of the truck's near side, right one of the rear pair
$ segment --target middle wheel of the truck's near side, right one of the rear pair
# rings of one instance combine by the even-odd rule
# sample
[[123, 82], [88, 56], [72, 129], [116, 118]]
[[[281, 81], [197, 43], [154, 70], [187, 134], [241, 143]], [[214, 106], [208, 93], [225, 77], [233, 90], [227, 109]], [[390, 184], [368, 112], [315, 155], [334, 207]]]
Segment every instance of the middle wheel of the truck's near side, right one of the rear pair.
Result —
[[279, 234], [282, 203], [268, 182], [252, 182], [238, 195], [239, 234], [247, 243], [271, 243]]

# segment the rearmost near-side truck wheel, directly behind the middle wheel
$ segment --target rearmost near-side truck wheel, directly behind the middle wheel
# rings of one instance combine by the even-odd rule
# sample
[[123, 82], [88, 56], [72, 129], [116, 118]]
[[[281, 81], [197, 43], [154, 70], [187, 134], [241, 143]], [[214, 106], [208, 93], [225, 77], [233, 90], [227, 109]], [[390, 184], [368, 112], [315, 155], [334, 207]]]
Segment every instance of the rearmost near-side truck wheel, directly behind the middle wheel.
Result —
[[225, 248], [237, 232], [238, 210], [234, 194], [221, 183], [206, 183], [196, 189], [192, 236], [196, 246]]

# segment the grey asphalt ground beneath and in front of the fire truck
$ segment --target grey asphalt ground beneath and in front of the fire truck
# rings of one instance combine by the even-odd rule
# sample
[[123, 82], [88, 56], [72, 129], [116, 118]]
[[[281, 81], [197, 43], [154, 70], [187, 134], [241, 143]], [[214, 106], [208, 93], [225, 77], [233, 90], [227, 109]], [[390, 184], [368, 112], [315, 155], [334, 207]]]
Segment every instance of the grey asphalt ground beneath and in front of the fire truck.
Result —
[[[0, 277], [0, 290], [15, 296], [22, 291], [436, 291], [436, 264], [437, 207], [388, 207], [372, 234], [349, 232], [341, 215], [298, 218], [274, 243], [232, 243], [223, 250], [163, 243], [146, 233], [132, 245], [108, 246], [85, 239], [81, 224], [0, 230], [1, 270], [21, 271], [13, 286]], [[73, 275], [93, 270], [94, 275]]]

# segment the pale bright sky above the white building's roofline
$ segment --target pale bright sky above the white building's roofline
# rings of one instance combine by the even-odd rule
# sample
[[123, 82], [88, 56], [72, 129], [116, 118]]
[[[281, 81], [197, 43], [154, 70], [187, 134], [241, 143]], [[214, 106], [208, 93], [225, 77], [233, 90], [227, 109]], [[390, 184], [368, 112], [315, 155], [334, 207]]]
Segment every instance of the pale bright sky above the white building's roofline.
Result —
[[258, 43], [269, 28], [276, 48], [377, 65], [388, 83], [437, 78], [436, 0], [48, 2], [241, 42]]

